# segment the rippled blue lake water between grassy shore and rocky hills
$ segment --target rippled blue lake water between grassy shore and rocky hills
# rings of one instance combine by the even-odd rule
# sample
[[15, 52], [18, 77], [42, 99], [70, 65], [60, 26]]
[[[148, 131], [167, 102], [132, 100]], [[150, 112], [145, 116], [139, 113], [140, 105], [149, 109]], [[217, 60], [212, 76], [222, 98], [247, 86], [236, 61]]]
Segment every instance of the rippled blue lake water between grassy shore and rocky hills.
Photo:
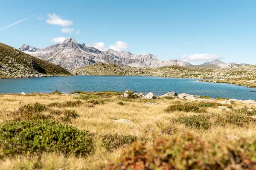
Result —
[[55, 90], [65, 93], [73, 91], [131, 91], [155, 95], [176, 91], [178, 94], [197, 94], [212, 98], [256, 99], [256, 89], [242, 86], [197, 82], [196, 79], [175, 79], [136, 76], [73, 76], [41, 77], [26, 79], [0, 79], [0, 93], [52, 93]]

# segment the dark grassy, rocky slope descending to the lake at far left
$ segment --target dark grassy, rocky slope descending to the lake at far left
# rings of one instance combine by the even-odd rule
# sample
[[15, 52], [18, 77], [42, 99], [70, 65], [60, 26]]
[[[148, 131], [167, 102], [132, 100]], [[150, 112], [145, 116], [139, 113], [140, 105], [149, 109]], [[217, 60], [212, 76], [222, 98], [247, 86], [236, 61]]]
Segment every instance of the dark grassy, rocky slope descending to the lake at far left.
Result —
[[[36, 48], [24, 47], [30, 51]], [[0, 78], [67, 76], [70, 72], [55, 64], [0, 43]]]

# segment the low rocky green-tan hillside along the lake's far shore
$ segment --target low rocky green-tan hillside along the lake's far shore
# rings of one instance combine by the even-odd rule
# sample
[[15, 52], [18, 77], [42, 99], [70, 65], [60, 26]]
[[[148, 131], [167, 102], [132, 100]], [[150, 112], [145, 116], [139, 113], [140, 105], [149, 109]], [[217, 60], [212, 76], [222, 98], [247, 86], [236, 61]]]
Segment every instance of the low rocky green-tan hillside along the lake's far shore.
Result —
[[96, 63], [73, 70], [72, 73], [75, 75], [126, 75], [198, 79], [232, 79], [256, 76], [256, 65], [236, 68], [189, 68], [181, 66], [127, 68], [115, 64]]

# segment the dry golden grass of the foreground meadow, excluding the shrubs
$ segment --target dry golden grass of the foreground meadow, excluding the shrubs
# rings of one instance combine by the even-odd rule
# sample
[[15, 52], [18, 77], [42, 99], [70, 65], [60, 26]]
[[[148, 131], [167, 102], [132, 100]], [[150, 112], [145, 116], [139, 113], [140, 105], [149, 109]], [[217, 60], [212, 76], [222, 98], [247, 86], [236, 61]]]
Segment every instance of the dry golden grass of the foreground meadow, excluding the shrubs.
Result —
[[[106, 95], [108, 94], [108, 95]], [[89, 95], [95, 97], [96, 100], [104, 100], [104, 104], [92, 105], [88, 100], [81, 100], [82, 105], [77, 107], [51, 107], [55, 110], [71, 109], [79, 114], [79, 117], [72, 119], [70, 125], [77, 127], [80, 130], [88, 130], [94, 133], [93, 144], [95, 152], [88, 157], [76, 157], [73, 155], [64, 156], [61, 153], [44, 153], [40, 156], [15, 156], [6, 157], [0, 160], [1, 169], [44, 169], [56, 170], [64, 168], [65, 170], [83, 170], [83, 169], [99, 169], [100, 166], [107, 164], [108, 161], [115, 161], [119, 158], [122, 148], [116, 149], [113, 152], [108, 152], [101, 146], [100, 136], [107, 134], [133, 135], [140, 138], [148, 139], [150, 147], [152, 141], [157, 136], [172, 137], [180, 136], [189, 131], [192, 134], [199, 134], [205, 138], [222, 136], [229, 139], [236, 139], [241, 136], [253, 137], [256, 134], [256, 126], [248, 124], [246, 127], [236, 125], [220, 126], [212, 124], [207, 130], [202, 128], [187, 127], [179, 124], [174, 119], [179, 116], [192, 115], [225, 115], [230, 114], [219, 110], [215, 107], [206, 108], [206, 113], [181, 112], [175, 111], [167, 113], [165, 109], [169, 105], [178, 103], [187, 103], [188, 100], [180, 100], [179, 102], [168, 99], [157, 100], [123, 100], [119, 98], [118, 93], [104, 92], [96, 95], [96, 93], [79, 94], [80, 96]], [[104, 97], [102, 97], [104, 96]], [[53, 102], [64, 103], [67, 101], [76, 101], [77, 96], [61, 96], [59, 94], [35, 94], [30, 95], [15, 95], [4, 94], [0, 95], [0, 123], [14, 119], [13, 111], [17, 111], [19, 107], [39, 102], [44, 105], [49, 105]], [[122, 101], [124, 105], [118, 104]], [[150, 102], [150, 105], [145, 103]], [[217, 101], [216, 101], [217, 102]], [[197, 103], [197, 102], [195, 102]], [[92, 107], [93, 106], [93, 107]], [[255, 108], [253, 105], [235, 103], [232, 108]], [[231, 111], [234, 112], [234, 111]], [[49, 111], [44, 111], [43, 114], [50, 114]], [[252, 116], [255, 117], [255, 116]], [[58, 116], [55, 116], [58, 120]], [[116, 123], [115, 119], [129, 119], [132, 123]], [[210, 122], [215, 121], [215, 117], [209, 119]]]

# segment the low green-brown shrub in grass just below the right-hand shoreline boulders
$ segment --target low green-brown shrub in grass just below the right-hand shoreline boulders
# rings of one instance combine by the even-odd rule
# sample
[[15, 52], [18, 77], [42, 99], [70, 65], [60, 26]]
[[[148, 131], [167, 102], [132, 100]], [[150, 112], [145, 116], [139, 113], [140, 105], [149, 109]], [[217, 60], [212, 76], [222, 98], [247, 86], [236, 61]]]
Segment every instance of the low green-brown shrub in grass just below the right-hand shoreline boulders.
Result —
[[177, 104], [177, 105], [170, 105], [168, 108], [165, 109], [167, 113], [175, 112], [175, 111], [184, 111], [184, 112], [206, 112], [205, 109], [199, 108], [197, 105], [190, 105], [190, 104]]

